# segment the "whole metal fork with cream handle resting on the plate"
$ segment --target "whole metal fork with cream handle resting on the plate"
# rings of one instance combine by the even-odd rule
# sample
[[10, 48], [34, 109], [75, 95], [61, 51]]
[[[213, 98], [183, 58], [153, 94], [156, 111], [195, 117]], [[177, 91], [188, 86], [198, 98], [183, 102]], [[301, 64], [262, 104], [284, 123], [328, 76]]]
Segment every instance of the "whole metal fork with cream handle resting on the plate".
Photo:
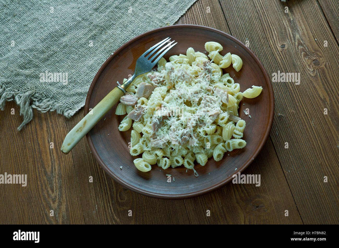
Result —
[[[133, 80], [148, 71], [151, 71], [153, 67], [159, 62], [169, 49], [171, 49], [178, 42], [172, 44], [171, 38], [166, 38], [159, 43], [149, 48], [143, 55], [137, 59], [135, 71], [132, 77], [130, 77], [122, 85], [118, 85], [107, 96], [104, 97], [82, 120], [69, 131], [65, 137], [61, 146], [61, 151], [65, 154], [70, 152], [73, 147], [91, 130], [95, 124], [111, 109], [122, 97], [127, 87], [133, 82]], [[166, 44], [166, 45], [165, 45]], [[161, 48], [161, 49], [160, 49]], [[158, 51], [158, 49], [160, 49]], [[156, 54], [154, 54], [158, 51]], [[149, 53], [149, 54], [148, 54]], [[161, 54], [160, 54], [161, 53]], [[153, 55], [154, 54], [154, 55]], [[146, 56], [147, 55], [147, 56]], [[153, 56], [152, 56], [153, 55]], [[152, 56], [152, 58], [150, 58]], [[158, 56], [158, 57], [157, 57]]]

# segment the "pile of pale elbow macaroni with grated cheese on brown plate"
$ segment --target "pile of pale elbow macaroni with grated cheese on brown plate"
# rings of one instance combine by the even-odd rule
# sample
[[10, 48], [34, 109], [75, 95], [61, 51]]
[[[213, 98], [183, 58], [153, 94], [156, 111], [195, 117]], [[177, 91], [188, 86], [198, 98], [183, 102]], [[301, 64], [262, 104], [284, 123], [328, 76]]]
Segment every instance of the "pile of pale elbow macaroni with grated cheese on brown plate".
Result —
[[[127, 88], [127, 91], [134, 95], [140, 83], [144, 82], [156, 86], [148, 98], [142, 97], [137, 101], [137, 106], [142, 106], [145, 110], [141, 119], [132, 124], [132, 119], [125, 116], [119, 125], [120, 131], [127, 131], [133, 127], [129, 152], [132, 156], [141, 157], [133, 161], [138, 170], [147, 172], [151, 170], [151, 165], [154, 164], [162, 169], [183, 165], [186, 169], [194, 170], [195, 161], [204, 166], [208, 158], [213, 157], [215, 161], [221, 161], [226, 151], [233, 151], [246, 146], [246, 141], [241, 139], [246, 122], [240, 118], [236, 123], [232, 120], [236, 120], [234, 116], [239, 116], [238, 108], [243, 97], [255, 98], [259, 96], [262, 87], [252, 86], [252, 88], [241, 92], [239, 83], [235, 83], [230, 74], [223, 74], [222, 71], [231, 64], [236, 71], [239, 71], [242, 68], [241, 58], [231, 53], [221, 54], [223, 47], [218, 42], [206, 42], [205, 49], [208, 56], [195, 51], [193, 47], [189, 47], [186, 55], [171, 56], [169, 62], [161, 58], [158, 62], [157, 71], [138, 76]], [[159, 74], [163, 75], [162, 78], [157, 78]], [[124, 79], [124, 81], [126, 80]], [[205, 89], [208, 87], [211, 89], [205, 91], [201, 96], [199, 95], [201, 91], [201, 88], [199, 88], [200, 82], [205, 83]], [[192, 91], [190, 87], [192, 87]], [[218, 90], [214, 90], [216, 88]], [[163, 128], [164, 121], [162, 120], [162, 123], [160, 123], [155, 118], [158, 115], [167, 116], [165, 118], [166, 123], [171, 121], [173, 116], [176, 116], [174, 112], [166, 115], [160, 113], [164, 107], [170, 106], [169, 104], [173, 101], [172, 92], [180, 89], [182, 91], [178, 93], [177, 97], [183, 100], [178, 103], [178, 106], [183, 109], [182, 115], [184, 117], [191, 116], [191, 119], [194, 119], [194, 115], [198, 113], [200, 106], [209, 110], [199, 117], [205, 116], [204, 118], [207, 118], [204, 119], [205, 121], [199, 122], [198, 119], [195, 119], [196, 124], [193, 125], [192, 129], [188, 129], [188, 131], [185, 131], [185, 129], [171, 136], [171, 133], [175, 133], [179, 127], [175, 123], [171, 123], [168, 124], [168, 129]], [[220, 92], [224, 92], [225, 95], [219, 96]], [[190, 93], [190, 95], [188, 96], [187, 93]], [[178, 99], [176, 101], [179, 101]], [[215, 111], [216, 106], [219, 107], [217, 112]], [[116, 108], [116, 115], [125, 115], [132, 110], [132, 106], [119, 103]], [[216, 117], [208, 121], [209, 116], [213, 116], [215, 113]], [[231, 117], [231, 115], [233, 116]], [[188, 128], [191, 119], [185, 119], [183, 125], [187, 125]], [[155, 129], [155, 125], [160, 127]], [[151, 137], [157, 140], [158, 136], [167, 137], [166, 135], [168, 139], [164, 141], [163, 146], [152, 143], [154, 141], [151, 140]], [[180, 142], [187, 143], [181, 144]], [[194, 144], [191, 144], [191, 142]]]

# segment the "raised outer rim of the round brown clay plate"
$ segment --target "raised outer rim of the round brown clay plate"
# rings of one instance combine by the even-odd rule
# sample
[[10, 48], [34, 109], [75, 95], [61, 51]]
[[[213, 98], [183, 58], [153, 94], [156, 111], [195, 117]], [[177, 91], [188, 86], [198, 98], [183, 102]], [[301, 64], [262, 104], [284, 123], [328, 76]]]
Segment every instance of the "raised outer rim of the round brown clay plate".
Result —
[[[120, 46], [116, 51], [114, 51], [114, 53], [111, 56], [109, 56], [106, 59], [106, 61], [101, 65], [100, 69], [96, 73], [96, 75], [95, 75], [95, 77], [94, 77], [94, 79], [93, 79], [93, 81], [91, 83], [91, 86], [89, 86], [89, 89], [88, 89], [88, 92], [87, 92], [86, 101], [85, 101], [85, 105], [84, 105], [84, 116], [87, 115], [87, 113], [88, 113], [89, 100], [91, 98], [93, 88], [94, 88], [94, 86], [95, 86], [95, 84], [96, 84], [100, 74], [102, 73], [103, 69], [114, 58], [114, 54], [119, 53], [121, 50], [125, 49], [129, 44], [133, 43], [135, 40], [138, 40], [139, 38], [141, 38], [143, 36], [150, 35], [152, 33], [156, 33], [156, 32], [158, 32], [160, 30], [167, 30], [167, 29], [172, 29], [172, 28], [197, 28], [197, 29], [210, 30], [210, 31], [213, 31], [215, 33], [219, 33], [220, 35], [225, 36], [228, 39], [231, 39], [231, 40], [235, 41], [238, 45], [240, 45], [243, 49], [245, 49], [247, 51], [247, 53], [250, 54], [252, 56], [252, 58], [257, 62], [257, 64], [259, 65], [259, 67], [260, 67], [260, 69], [261, 69], [261, 71], [262, 71], [262, 73], [263, 73], [263, 75], [265, 77], [265, 80], [266, 80], [267, 85], [268, 85], [269, 95], [271, 96], [270, 106], [272, 107], [271, 111], [269, 113], [270, 116], [269, 116], [269, 120], [268, 120], [268, 128], [266, 129], [266, 131], [264, 133], [264, 136], [263, 136], [263, 139], [261, 139], [261, 142], [259, 143], [259, 146], [258, 146], [257, 150], [250, 157], [250, 160], [247, 163], [245, 163], [241, 168], [239, 168], [237, 170], [238, 172], [242, 172], [243, 170], [245, 170], [253, 162], [253, 160], [262, 151], [262, 148], [265, 145], [265, 143], [266, 143], [266, 141], [267, 141], [267, 139], [268, 139], [268, 137], [270, 135], [270, 132], [271, 132], [271, 129], [272, 129], [272, 124], [273, 124], [273, 119], [274, 119], [274, 108], [275, 108], [274, 91], [273, 91], [273, 86], [272, 86], [271, 80], [270, 80], [270, 78], [268, 76], [268, 73], [267, 73], [265, 67], [263, 66], [263, 64], [259, 60], [259, 58], [254, 54], [254, 52], [250, 48], [246, 47], [245, 44], [243, 44], [240, 40], [236, 39], [235, 37], [233, 37], [233, 36], [231, 36], [231, 35], [229, 35], [229, 34], [227, 34], [225, 32], [222, 32], [222, 31], [220, 31], [218, 29], [215, 29], [215, 28], [212, 28], [212, 27], [207, 27], [207, 26], [194, 25], [194, 24], [177, 24], [177, 25], [170, 25], [170, 26], [159, 27], [159, 28], [156, 28], [156, 29], [149, 30], [149, 31], [147, 31], [145, 33], [142, 33], [142, 34], [132, 38], [131, 40], [127, 41], [122, 46]], [[205, 189], [193, 192], [193, 193], [180, 193], [180, 194], [171, 194], [171, 195], [168, 195], [168, 194], [165, 194], [165, 193], [155, 193], [155, 192], [143, 190], [143, 189], [140, 189], [140, 188], [135, 187], [133, 185], [125, 183], [123, 180], [121, 180], [119, 177], [117, 177], [108, 168], [108, 166], [105, 165], [105, 163], [101, 160], [100, 156], [97, 153], [97, 150], [96, 150], [96, 148], [95, 148], [95, 146], [94, 146], [94, 144], [92, 142], [92, 139], [91, 139], [91, 136], [89, 135], [89, 132], [86, 134], [86, 140], [87, 140], [89, 149], [92, 151], [92, 155], [94, 156], [95, 160], [98, 162], [100, 167], [111, 178], [113, 178], [116, 182], [118, 182], [122, 186], [124, 186], [124, 187], [126, 187], [126, 188], [128, 188], [128, 189], [130, 189], [130, 190], [132, 190], [134, 192], [146, 195], [148, 197], [159, 198], [159, 199], [167, 199], [167, 200], [180, 200], [180, 199], [188, 199], [188, 198], [198, 197], [198, 196], [204, 195], [206, 193], [212, 192], [214, 190], [217, 190], [217, 189], [225, 186], [227, 183], [229, 183], [232, 180], [232, 177], [228, 177], [228, 178], [226, 178], [225, 180], [221, 181], [218, 184], [215, 184], [215, 185], [213, 185], [211, 187], [208, 187], [208, 188], [205, 188]]]

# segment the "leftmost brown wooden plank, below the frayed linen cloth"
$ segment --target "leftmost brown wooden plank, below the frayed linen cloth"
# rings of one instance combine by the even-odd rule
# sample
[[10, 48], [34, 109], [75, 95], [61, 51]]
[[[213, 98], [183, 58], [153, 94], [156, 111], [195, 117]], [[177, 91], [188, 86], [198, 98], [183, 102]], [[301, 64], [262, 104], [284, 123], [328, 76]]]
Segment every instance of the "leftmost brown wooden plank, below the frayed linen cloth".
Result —
[[0, 224], [83, 224], [73, 160], [60, 153], [64, 118], [34, 111], [32, 122], [17, 131], [19, 112], [14, 102], [0, 111], [0, 173], [27, 174], [27, 186], [0, 184]]

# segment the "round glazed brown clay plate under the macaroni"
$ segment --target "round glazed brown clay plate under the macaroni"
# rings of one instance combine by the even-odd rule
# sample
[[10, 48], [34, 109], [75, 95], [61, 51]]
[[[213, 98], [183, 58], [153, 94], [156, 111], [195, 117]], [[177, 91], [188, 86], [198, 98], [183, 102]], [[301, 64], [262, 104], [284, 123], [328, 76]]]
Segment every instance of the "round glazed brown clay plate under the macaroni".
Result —
[[[139, 56], [157, 42], [171, 37], [178, 42], [165, 55], [165, 59], [172, 55], [186, 54], [188, 47], [195, 51], [205, 51], [207, 41], [216, 41], [223, 46], [221, 55], [228, 52], [237, 54], [243, 61], [242, 69], [236, 72], [232, 65], [223, 69], [223, 73], [230, 73], [240, 90], [244, 91], [252, 85], [262, 86], [259, 97], [246, 99], [240, 102], [239, 116], [246, 121], [243, 139], [246, 147], [226, 152], [221, 161], [208, 159], [205, 166], [196, 165], [199, 177], [195, 177], [193, 170], [180, 166], [179, 168], [161, 169], [152, 165], [149, 172], [139, 171], [133, 164], [129, 154], [131, 130], [120, 132], [118, 126], [123, 116], [115, 115], [114, 106], [87, 134], [87, 141], [92, 154], [100, 166], [118, 183], [135, 192], [163, 199], [184, 199], [196, 197], [215, 190], [232, 181], [232, 175], [243, 170], [252, 163], [258, 155], [270, 133], [274, 115], [274, 94], [270, 79], [262, 63], [256, 55], [243, 43], [234, 37], [219, 30], [197, 25], [174, 25], [151, 30], [141, 34], [122, 45], [101, 66], [89, 88], [85, 114], [103, 99], [109, 91], [134, 73], [135, 63]], [[245, 105], [243, 105], [245, 104]], [[243, 112], [248, 108], [249, 118]], [[227, 156], [227, 154], [230, 154]], [[122, 166], [122, 169], [120, 169]], [[235, 170], [237, 168], [237, 170]], [[166, 174], [172, 175], [172, 182], [167, 182]]]

